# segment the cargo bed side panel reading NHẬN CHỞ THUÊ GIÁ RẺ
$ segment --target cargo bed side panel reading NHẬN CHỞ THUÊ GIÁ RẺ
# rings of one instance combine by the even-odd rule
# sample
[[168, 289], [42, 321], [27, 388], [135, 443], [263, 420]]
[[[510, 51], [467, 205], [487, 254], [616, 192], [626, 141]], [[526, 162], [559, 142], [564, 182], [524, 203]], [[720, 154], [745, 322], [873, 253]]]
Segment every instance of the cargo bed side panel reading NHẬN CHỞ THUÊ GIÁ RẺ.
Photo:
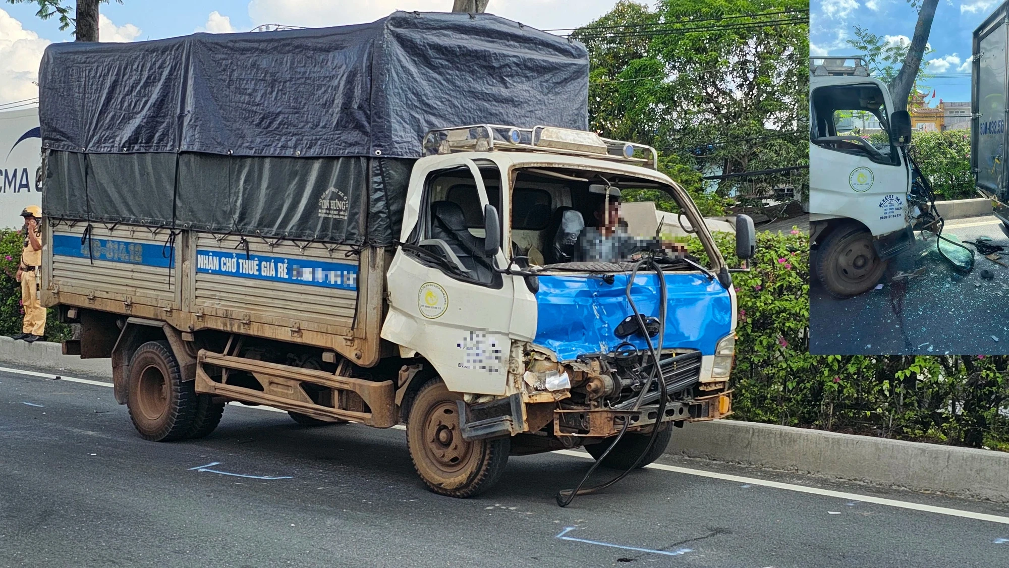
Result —
[[184, 306], [196, 329], [309, 343], [365, 366], [377, 362], [381, 249], [354, 253], [349, 246], [195, 231], [188, 238]]

